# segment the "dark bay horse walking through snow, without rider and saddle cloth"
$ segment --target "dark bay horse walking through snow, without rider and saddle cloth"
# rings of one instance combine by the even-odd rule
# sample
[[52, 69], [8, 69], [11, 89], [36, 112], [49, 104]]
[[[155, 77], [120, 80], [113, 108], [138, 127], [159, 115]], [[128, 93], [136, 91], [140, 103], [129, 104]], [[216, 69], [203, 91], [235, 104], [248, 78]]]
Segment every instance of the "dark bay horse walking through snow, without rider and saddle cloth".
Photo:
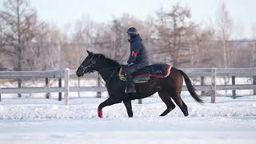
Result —
[[[194, 86], [192, 86], [190, 78], [188, 78], [188, 76], [182, 70], [178, 70], [174, 67], [171, 68], [170, 75], [168, 77], [151, 77], [149, 82], [135, 84], [135, 90], [137, 91], [136, 94], [126, 94], [126, 82], [121, 81], [118, 77], [118, 73], [122, 65], [110, 58], [107, 58], [103, 54], [93, 54], [88, 50], [87, 53], [88, 56], [77, 70], [78, 77], [81, 77], [86, 73], [98, 71], [106, 82], [106, 89], [110, 96], [105, 102], [102, 102], [98, 106], [99, 118], [102, 118], [103, 107], [120, 102], [125, 104], [128, 116], [133, 117], [131, 100], [146, 98], [157, 92], [159, 97], [162, 99], [162, 102], [165, 102], [167, 106], [166, 110], [160, 116], [165, 116], [171, 110], [174, 110], [174, 102], [182, 110], [182, 113], [185, 116], [188, 116], [189, 113], [187, 106], [181, 98], [183, 78], [194, 100], [199, 103], [203, 102], [196, 93]], [[174, 100], [174, 102], [172, 102], [171, 98]]]

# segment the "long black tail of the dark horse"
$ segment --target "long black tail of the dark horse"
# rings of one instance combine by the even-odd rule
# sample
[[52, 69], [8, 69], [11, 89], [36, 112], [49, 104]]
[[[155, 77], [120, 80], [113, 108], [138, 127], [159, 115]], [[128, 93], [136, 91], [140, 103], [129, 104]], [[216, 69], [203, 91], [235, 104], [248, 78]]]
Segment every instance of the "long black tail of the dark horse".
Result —
[[190, 78], [184, 73], [184, 71], [179, 70], [179, 72], [182, 74], [182, 76], [186, 82], [186, 87], [189, 90], [191, 96], [194, 98], [194, 100], [196, 100], [199, 103], [203, 103], [202, 99], [197, 94], [196, 90], [194, 89], [194, 86], [192, 85]]

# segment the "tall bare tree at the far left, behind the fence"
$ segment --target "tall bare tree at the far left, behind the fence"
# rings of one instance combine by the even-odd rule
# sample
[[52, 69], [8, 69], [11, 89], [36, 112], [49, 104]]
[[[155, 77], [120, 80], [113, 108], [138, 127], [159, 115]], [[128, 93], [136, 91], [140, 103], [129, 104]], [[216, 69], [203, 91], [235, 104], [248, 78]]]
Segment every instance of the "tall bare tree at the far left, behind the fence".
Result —
[[38, 34], [42, 23], [38, 23], [37, 12], [30, 8], [27, 0], [8, 0], [3, 3], [4, 10], [0, 11], [0, 21], [4, 27], [1, 51], [17, 57], [14, 70], [24, 70], [27, 58], [23, 57], [26, 46]]

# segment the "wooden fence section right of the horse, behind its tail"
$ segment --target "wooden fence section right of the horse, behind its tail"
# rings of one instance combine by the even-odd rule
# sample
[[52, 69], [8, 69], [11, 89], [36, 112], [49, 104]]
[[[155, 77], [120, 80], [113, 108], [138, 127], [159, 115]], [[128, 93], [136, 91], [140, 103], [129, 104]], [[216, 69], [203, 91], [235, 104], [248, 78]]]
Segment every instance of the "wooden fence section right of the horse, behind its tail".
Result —
[[[215, 102], [216, 94], [218, 90], [232, 90], [233, 98], [236, 98], [236, 90], [254, 90], [256, 95], [256, 68], [202, 68], [202, 69], [182, 69], [190, 78], [201, 78], [201, 85], [194, 86], [196, 90], [210, 91], [211, 102]], [[205, 85], [205, 78], [210, 78], [210, 85]], [[231, 85], [217, 85], [217, 78], [231, 78]], [[236, 84], [236, 78], [252, 78], [252, 84]], [[182, 90], [186, 90], [186, 86], [183, 86]]]

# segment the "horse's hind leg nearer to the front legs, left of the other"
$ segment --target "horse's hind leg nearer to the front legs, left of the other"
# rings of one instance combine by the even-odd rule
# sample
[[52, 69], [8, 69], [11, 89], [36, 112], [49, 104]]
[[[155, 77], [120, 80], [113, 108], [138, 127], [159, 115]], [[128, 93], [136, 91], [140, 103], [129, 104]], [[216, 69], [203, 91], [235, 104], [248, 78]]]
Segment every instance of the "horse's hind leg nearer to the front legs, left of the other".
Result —
[[170, 113], [171, 110], [174, 110], [175, 105], [174, 102], [170, 99], [170, 94], [167, 91], [159, 91], [159, 97], [162, 99], [162, 102], [166, 103], [167, 109], [160, 115], [165, 116], [166, 114]]

